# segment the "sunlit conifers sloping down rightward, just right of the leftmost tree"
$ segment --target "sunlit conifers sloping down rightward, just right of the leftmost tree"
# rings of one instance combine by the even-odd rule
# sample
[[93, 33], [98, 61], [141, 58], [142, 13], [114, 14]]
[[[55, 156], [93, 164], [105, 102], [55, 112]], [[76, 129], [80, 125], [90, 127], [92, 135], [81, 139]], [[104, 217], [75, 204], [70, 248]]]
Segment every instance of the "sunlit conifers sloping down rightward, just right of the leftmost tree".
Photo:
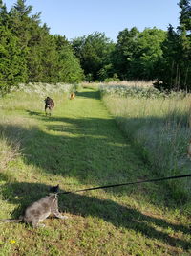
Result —
[[[26, 0], [11, 8], [11, 30], [26, 53], [28, 81], [79, 81], [82, 70], [72, 47], [61, 36], [50, 35], [46, 24], [40, 26], [40, 12], [32, 15]], [[56, 38], [56, 39], [55, 39]]]

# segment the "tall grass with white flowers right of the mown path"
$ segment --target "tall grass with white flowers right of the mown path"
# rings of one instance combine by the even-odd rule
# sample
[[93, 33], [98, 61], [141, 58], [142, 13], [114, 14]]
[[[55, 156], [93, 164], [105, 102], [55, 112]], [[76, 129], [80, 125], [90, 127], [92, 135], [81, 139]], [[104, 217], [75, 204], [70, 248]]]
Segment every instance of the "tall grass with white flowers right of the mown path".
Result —
[[[133, 141], [142, 158], [159, 176], [188, 174], [191, 161], [187, 147], [191, 137], [191, 95], [148, 94], [124, 86], [101, 86], [102, 99], [117, 123]], [[191, 180], [169, 182], [172, 197], [186, 201]]]

